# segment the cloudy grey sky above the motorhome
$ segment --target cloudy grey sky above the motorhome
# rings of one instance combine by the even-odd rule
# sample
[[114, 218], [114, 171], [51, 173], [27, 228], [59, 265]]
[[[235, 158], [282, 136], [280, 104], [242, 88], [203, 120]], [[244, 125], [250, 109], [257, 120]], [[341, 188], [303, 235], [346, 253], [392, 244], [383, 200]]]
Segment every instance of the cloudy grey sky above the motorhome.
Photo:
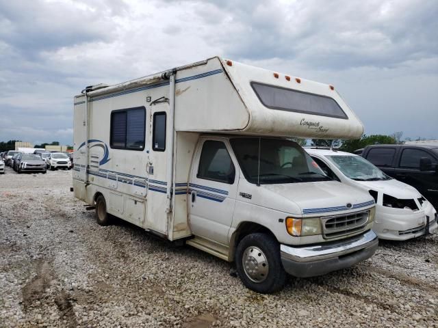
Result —
[[73, 96], [221, 55], [335, 85], [367, 134], [438, 139], [438, 1], [0, 0], [0, 141], [73, 143]]

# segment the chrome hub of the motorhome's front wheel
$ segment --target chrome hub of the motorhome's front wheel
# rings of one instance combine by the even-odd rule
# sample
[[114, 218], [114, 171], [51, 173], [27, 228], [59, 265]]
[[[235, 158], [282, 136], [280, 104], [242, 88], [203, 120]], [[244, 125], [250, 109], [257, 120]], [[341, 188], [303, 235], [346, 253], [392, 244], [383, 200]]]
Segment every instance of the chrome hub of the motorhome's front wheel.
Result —
[[251, 246], [245, 249], [242, 266], [246, 276], [253, 282], [263, 282], [268, 277], [268, 259], [258, 247]]

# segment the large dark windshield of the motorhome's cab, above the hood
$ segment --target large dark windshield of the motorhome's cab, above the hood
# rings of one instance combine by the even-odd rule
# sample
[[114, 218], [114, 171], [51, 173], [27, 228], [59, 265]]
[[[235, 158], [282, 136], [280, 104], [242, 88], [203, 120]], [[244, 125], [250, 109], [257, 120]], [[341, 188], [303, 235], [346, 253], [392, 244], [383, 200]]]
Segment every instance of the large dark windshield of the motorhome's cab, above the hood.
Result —
[[235, 138], [230, 142], [248, 182], [274, 184], [332, 180], [294, 141]]

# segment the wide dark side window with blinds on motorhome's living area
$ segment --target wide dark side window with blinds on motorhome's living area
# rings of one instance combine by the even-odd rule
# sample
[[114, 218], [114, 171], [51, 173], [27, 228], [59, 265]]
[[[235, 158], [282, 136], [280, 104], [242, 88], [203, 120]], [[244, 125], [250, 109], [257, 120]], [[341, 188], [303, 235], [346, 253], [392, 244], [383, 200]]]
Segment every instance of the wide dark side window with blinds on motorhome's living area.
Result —
[[111, 113], [110, 146], [116, 149], [144, 150], [146, 109], [134, 107]]

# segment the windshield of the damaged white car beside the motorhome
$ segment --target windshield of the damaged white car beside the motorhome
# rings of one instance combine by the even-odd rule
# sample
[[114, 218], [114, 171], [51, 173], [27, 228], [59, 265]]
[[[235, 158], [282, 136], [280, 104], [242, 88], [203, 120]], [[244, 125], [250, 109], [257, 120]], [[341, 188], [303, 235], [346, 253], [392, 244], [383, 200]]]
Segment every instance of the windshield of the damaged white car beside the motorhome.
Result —
[[326, 156], [347, 177], [357, 181], [390, 180], [391, 178], [361, 156]]

